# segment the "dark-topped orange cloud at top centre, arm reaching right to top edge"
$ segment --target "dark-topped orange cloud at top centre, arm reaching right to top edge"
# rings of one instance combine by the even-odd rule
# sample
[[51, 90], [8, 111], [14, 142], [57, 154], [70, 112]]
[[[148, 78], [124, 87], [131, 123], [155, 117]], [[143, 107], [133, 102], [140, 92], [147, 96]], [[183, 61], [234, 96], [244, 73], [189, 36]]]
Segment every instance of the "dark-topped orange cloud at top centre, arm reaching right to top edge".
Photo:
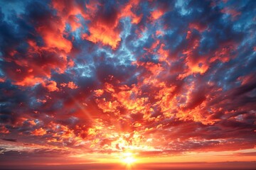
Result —
[[[103, 8], [102, 11], [98, 10], [95, 15], [90, 16], [90, 34], [83, 34], [82, 39], [94, 43], [101, 42], [103, 45], [110, 45], [110, 47], [115, 50], [121, 41], [119, 35], [119, 20], [124, 17], [131, 17], [132, 23], [139, 23], [142, 19], [142, 15], [137, 16], [132, 12], [132, 8], [137, 8], [138, 5], [139, 1], [131, 0], [126, 5], [122, 6], [122, 9], [119, 11], [115, 8], [111, 10], [105, 8]], [[93, 13], [95, 13], [95, 9], [95, 7], [92, 8]]]

